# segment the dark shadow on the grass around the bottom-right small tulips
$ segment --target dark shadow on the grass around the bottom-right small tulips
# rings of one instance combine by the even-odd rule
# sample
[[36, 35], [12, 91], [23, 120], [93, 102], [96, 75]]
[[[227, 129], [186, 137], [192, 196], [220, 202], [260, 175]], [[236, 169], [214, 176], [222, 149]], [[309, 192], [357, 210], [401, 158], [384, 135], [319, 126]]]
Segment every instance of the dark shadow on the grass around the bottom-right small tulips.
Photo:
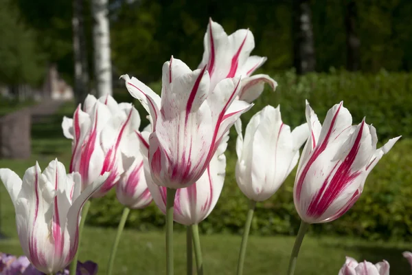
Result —
[[[404, 248], [404, 245], [395, 246], [393, 244], [388, 243], [373, 243], [374, 241], [371, 241], [371, 243], [358, 243], [358, 244], [347, 244], [347, 245], [342, 245], [342, 244], [337, 244], [337, 243], [332, 243], [328, 244], [325, 243], [323, 244], [326, 247], [332, 247], [332, 248], [339, 248], [339, 249], [345, 249], [345, 250], [350, 250], [356, 252], [358, 254], [358, 259], [356, 259], [356, 256], [354, 255], [347, 255], [347, 256], [352, 256], [353, 258], [356, 259], [356, 261], [361, 262], [361, 261], [369, 261], [371, 263], [378, 263], [382, 260], [388, 261], [389, 265], [391, 265], [391, 274], [396, 274], [396, 275], [409, 275], [411, 274], [411, 265], [409, 265], [407, 259], [405, 259], [402, 256], [402, 252], [406, 250], [411, 250], [411, 248]], [[345, 259], [343, 259], [343, 262]]]

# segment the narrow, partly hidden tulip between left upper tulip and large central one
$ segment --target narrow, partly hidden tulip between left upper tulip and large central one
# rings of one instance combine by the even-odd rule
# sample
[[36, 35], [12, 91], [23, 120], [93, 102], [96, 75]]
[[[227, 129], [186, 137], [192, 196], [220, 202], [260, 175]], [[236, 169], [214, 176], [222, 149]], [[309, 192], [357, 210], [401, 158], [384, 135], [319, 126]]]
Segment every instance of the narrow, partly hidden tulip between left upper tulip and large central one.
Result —
[[144, 175], [144, 155], [142, 155], [139, 146], [136, 146], [139, 144], [139, 137], [136, 132], [132, 135], [128, 139], [129, 144], [131, 144], [129, 147], [130, 157], [123, 154], [125, 172], [116, 185], [116, 196], [124, 206], [141, 209], [152, 202], [152, 196]]

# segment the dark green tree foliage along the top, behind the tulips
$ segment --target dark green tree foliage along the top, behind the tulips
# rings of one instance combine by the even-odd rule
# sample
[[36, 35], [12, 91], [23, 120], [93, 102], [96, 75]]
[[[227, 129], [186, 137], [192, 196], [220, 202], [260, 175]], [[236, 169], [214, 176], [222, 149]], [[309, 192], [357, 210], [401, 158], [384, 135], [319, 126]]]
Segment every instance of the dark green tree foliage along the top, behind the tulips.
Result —
[[[348, 1], [310, 0], [318, 72], [346, 66]], [[30, 22], [30, 28], [36, 30], [34, 40], [47, 54], [47, 61], [57, 63], [62, 75], [72, 80], [71, 0], [17, 0], [16, 3], [25, 21]], [[262, 69], [277, 72], [293, 67], [293, 0], [111, 0], [110, 4], [114, 76], [128, 73], [144, 81], [157, 80], [161, 65], [172, 54], [196, 68], [202, 58], [209, 17], [222, 24], [227, 33], [250, 28], [256, 42], [253, 54], [268, 56]], [[85, 1], [84, 8], [87, 56], [92, 64], [90, 1]], [[6, 21], [6, 15], [12, 13], [8, 9], [2, 8], [5, 16], [1, 21]], [[358, 67], [365, 72], [411, 69], [410, 14], [412, 1], [409, 0], [356, 1]], [[4, 48], [0, 54], [8, 55]], [[93, 72], [93, 67], [89, 67], [90, 73]], [[8, 70], [1, 69], [1, 74], [4, 72]]]

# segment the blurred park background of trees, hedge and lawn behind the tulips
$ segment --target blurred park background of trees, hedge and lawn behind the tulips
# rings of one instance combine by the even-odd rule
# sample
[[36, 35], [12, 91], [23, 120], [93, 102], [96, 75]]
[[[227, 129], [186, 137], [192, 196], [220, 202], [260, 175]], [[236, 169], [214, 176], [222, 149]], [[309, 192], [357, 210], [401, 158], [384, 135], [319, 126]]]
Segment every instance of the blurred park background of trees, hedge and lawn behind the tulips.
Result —
[[[332, 223], [312, 226], [296, 274], [337, 274], [352, 256], [387, 259], [392, 274], [410, 274], [412, 245], [412, 1], [410, 0], [0, 0], [0, 166], [23, 175], [38, 160], [69, 164], [62, 135], [87, 94], [134, 102], [118, 80], [129, 74], [160, 92], [161, 66], [173, 55], [196, 69], [209, 17], [227, 34], [249, 28], [253, 55], [267, 56], [258, 73], [274, 78], [244, 124], [266, 104], [281, 105], [292, 128], [305, 121], [308, 99], [321, 121], [344, 100], [354, 118], [376, 126], [379, 144], [402, 135], [369, 175], [354, 208]], [[142, 119], [142, 126], [148, 122]], [[233, 129], [232, 129], [233, 130]], [[227, 150], [225, 187], [201, 223], [206, 273], [234, 274], [247, 213], [234, 177], [236, 133]], [[258, 203], [245, 274], [284, 274], [299, 218], [294, 173], [268, 201]], [[104, 274], [123, 206], [114, 192], [92, 202], [80, 260]], [[0, 186], [0, 251], [21, 254], [14, 209]], [[152, 203], [130, 213], [115, 274], [163, 274], [163, 214]], [[185, 236], [176, 225], [176, 274], [185, 272]], [[179, 232], [179, 230], [181, 232]], [[99, 274], [100, 274], [99, 273]]]

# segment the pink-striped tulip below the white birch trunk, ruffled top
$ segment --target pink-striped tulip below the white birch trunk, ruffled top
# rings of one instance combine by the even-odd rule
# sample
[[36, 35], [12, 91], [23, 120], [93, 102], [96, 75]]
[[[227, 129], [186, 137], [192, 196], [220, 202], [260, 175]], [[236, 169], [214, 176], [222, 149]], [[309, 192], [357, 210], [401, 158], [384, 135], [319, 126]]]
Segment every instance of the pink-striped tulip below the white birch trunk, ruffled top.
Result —
[[111, 172], [93, 197], [104, 196], [119, 181], [124, 173], [122, 151], [128, 150], [128, 137], [139, 126], [139, 113], [132, 104], [117, 104], [111, 96], [96, 99], [89, 95], [83, 110], [79, 104], [73, 119], [63, 118], [63, 133], [73, 140], [69, 170], [80, 173], [83, 188], [99, 175]]

